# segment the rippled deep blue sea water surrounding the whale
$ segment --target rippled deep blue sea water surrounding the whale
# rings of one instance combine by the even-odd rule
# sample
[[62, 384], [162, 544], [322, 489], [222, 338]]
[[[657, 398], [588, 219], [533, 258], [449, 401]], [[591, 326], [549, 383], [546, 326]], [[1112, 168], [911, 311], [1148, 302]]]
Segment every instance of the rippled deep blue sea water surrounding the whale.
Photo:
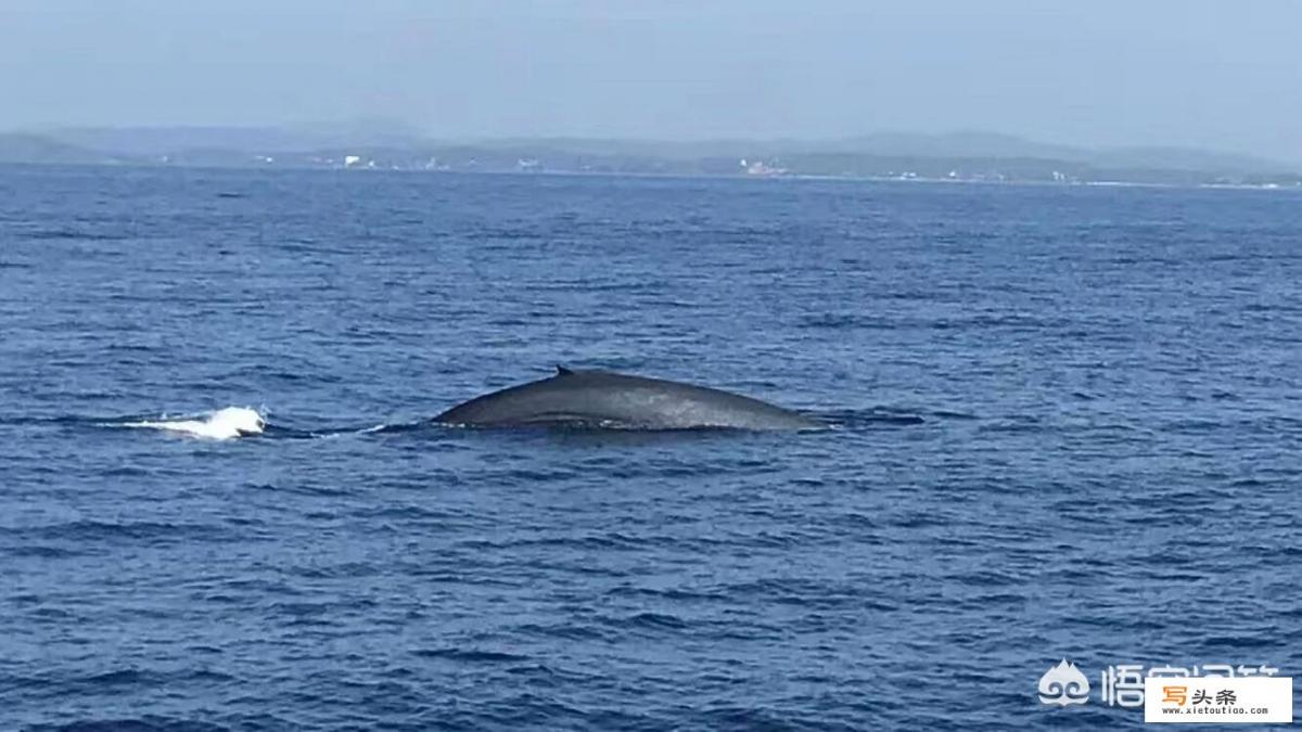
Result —
[[[0, 169], [0, 728], [1094, 729], [1108, 666], [1302, 675], [1299, 283], [1288, 191]], [[836, 429], [426, 422], [556, 363]], [[227, 406], [267, 431], [129, 426]]]

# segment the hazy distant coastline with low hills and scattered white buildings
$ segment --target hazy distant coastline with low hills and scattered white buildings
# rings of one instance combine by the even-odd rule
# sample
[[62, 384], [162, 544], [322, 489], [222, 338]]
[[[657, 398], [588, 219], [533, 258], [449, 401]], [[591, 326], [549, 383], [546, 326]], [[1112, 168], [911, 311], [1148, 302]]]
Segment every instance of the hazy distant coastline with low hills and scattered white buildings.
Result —
[[277, 128], [105, 128], [4, 133], [0, 163], [1302, 189], [1298, 171], [1251, 156], [1185, 148], [1100, 151], [988, 133], [825, 142], [439, 142]]

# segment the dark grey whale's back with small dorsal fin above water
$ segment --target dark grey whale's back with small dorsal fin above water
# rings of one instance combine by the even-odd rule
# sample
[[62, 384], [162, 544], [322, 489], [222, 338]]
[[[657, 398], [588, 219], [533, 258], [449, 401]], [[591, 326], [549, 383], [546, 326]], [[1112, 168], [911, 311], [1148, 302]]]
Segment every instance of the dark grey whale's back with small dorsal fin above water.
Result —
[[457, 427], [815, 430], [797, 412], [721, 389], [615, 371], [556, 367], [547, 379], [458, 404], [432, 419]]

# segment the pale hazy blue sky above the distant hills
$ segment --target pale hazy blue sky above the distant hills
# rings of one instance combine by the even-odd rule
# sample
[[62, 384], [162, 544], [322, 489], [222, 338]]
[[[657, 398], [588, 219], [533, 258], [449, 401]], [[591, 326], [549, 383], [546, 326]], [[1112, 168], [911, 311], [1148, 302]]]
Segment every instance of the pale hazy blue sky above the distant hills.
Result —
[[1302, 162], [1294, 0], [0, 0], [0, 129], [984, 130]]

